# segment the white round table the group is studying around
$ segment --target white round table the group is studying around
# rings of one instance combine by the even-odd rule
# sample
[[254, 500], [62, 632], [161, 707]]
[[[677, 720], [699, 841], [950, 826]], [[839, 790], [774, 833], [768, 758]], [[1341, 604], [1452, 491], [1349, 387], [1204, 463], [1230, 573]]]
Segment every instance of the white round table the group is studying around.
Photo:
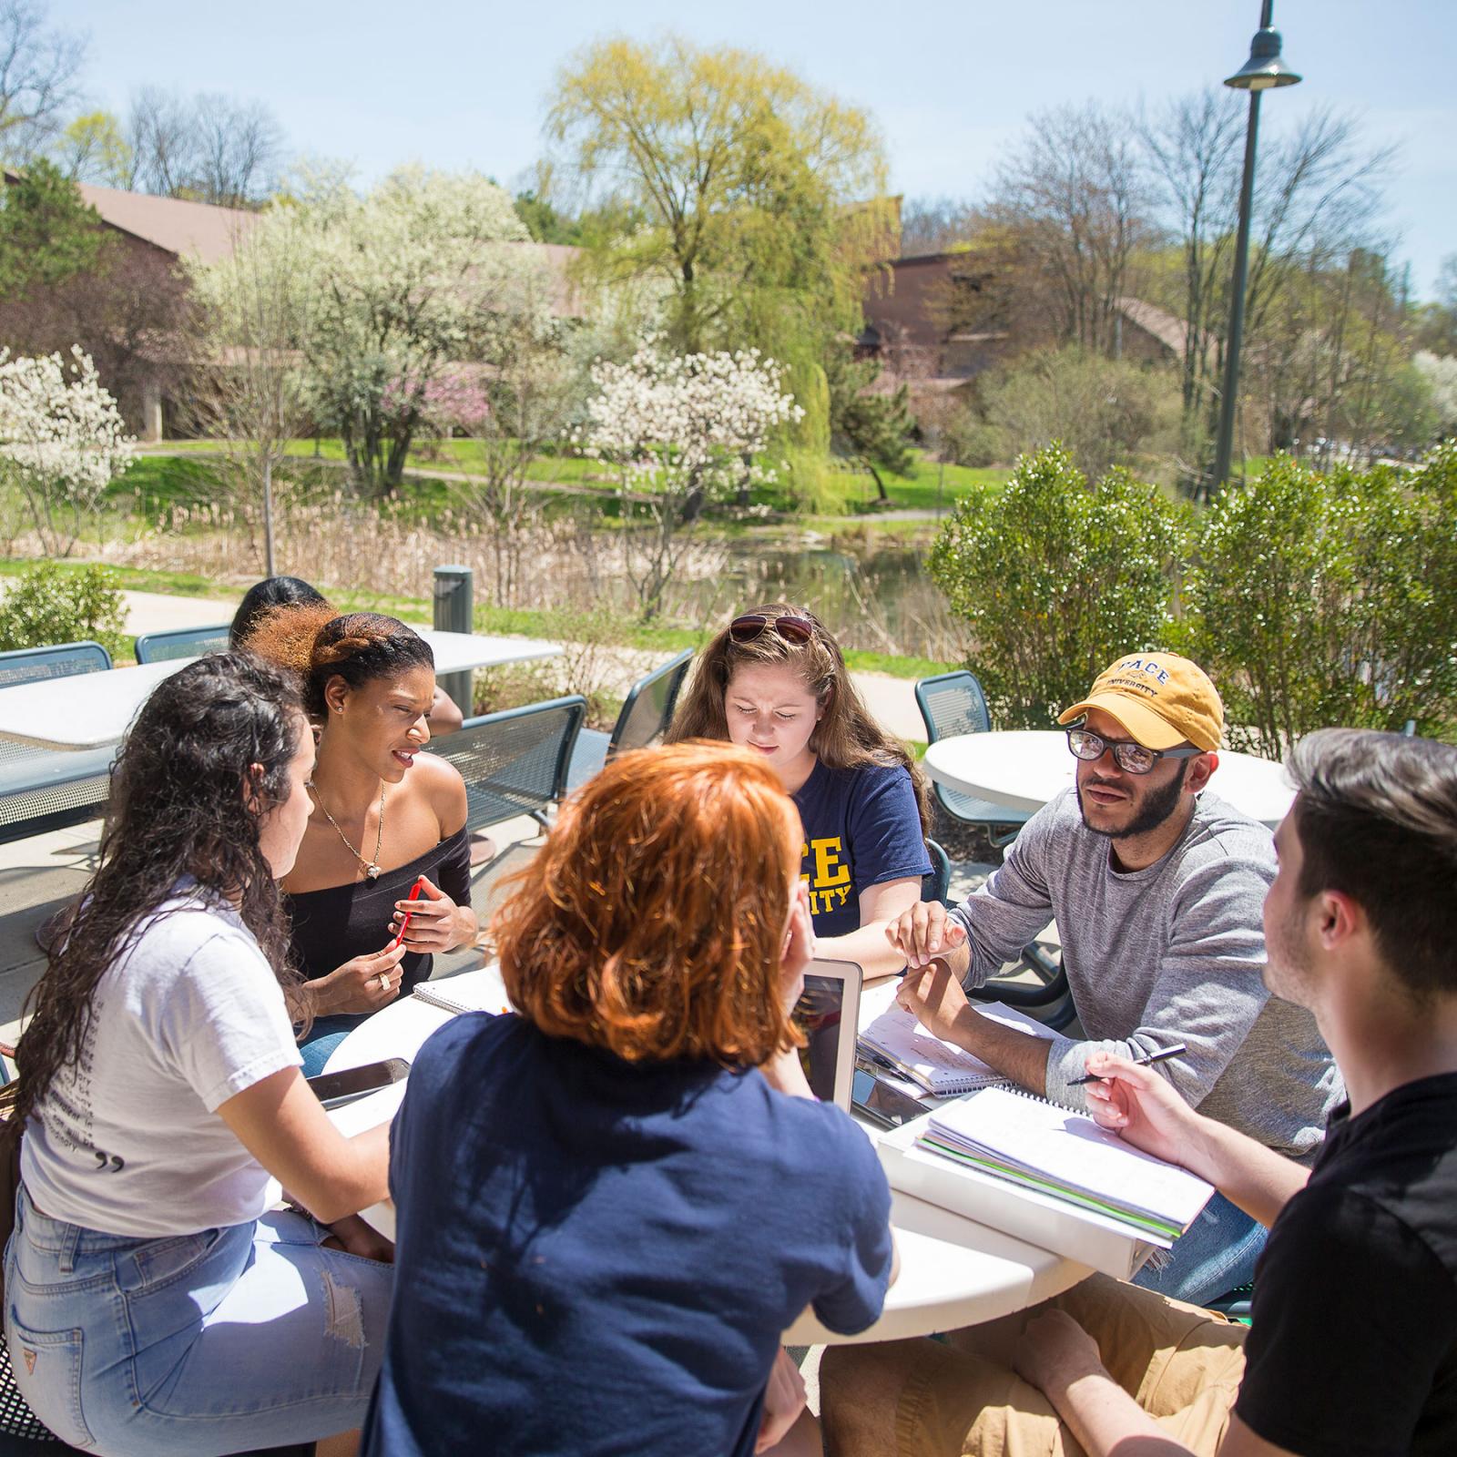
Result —
[[[506, 988], [495, 965], [425, 983], [430, 991], [459, 1000], [463, 1005], [487, 1011], [504, 1010]], [[867, 986], [861, 997], [861, 1026], [874, 1020], [895, 997], [896, 982]], [[357, 1068], [382, 1058], [414, 1059], [421, 1043], [450, 1020], [453, 1013], [431, 1007], [414, 997], [402, 997], [377, 1011], [334, 1049], [325, 1064], [328, 1072]], [[408, 1080], [407, 1080], [408, 1083]], [[363, 1132], [393, 1119], [405, 1096], [407, 1083], [396, 1083], [379, 1093], [335, 1109], [329, 1116], [345, 1134]], [[874, 1141], [877, 1129], [857, 1119], [865, 1136]], [[848, 1345], [851, 1342], [900, 1340], [928, 1336], [938, 1330], [975, 1326], [983, 1320], [1010, 1316], [1039, 1301], [1049, 1300], [1093, 1273], [1088, 1266], [1064, 1259], [1034, 1244], [950, 1209], [892, 1190], [892, 1222], [900, 1250], [900, 1273], [880, 1319], [858, 1336], [826, 1330], [813, 1311], [806, 1310], [787, 1332], [791, 1346]], [[382, 1234], [395, 1237], [395, 1206], [376, 1203], [363, 1217]]]

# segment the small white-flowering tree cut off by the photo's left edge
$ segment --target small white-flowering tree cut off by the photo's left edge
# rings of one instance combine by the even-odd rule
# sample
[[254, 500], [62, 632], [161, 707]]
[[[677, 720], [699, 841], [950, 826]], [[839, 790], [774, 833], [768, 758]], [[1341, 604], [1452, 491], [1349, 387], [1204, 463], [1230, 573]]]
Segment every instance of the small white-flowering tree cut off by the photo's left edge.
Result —
[[47, 555], [70, 555], [134, 446], [80, 345], [70, 360], [0, 350], [0, 476], [25, 498]]

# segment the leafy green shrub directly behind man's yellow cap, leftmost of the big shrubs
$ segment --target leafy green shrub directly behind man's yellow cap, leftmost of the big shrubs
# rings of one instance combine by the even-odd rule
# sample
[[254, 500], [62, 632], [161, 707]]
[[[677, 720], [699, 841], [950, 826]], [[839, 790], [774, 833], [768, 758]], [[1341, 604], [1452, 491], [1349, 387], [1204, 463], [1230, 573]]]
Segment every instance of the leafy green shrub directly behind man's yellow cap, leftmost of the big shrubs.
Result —
[[970, 625], [992, 717], [1045, 727], [1119, 653], [1166, 640], [1183, 510], [1125, 471], [1096, 485], [1061, 446], [957, 503], [931, 576]]

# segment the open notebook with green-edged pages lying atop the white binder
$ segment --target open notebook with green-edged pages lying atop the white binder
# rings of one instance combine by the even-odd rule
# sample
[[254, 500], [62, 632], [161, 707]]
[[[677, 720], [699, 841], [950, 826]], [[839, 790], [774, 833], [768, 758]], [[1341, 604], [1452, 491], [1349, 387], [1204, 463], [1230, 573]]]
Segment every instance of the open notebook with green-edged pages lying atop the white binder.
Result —
[[916, 1147], [1118, 1220], [1158, 1243], [1183, 1234], [1214, 1192], [1085, 1113], [1007, 1088], [935, 1109]]

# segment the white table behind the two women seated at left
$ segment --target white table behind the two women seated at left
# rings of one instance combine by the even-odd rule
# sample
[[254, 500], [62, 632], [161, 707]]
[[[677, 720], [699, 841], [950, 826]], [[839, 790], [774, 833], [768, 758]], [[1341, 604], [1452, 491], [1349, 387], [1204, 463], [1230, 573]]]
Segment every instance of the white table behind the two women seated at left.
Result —
[[[561, 644], [536, 638], [417, 629], [436, 656], [436, 673], [463, 673], [558, 657]], [[102, 749], [119, 743], [152, 689], [197, 659], [170, 659], [0, 688], [0, 734], [50, 749]]]

